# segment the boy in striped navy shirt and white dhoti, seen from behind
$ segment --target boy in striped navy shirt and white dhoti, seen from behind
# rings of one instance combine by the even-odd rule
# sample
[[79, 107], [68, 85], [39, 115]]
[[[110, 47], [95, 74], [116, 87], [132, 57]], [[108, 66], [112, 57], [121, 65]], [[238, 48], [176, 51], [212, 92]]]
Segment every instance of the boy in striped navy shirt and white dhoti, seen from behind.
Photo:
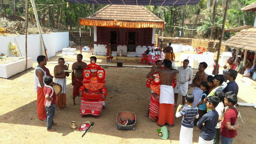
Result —
[[179, 105], [176, 111], [176, 117], [183, 116], [181, 121], [181, 131], [179, 133], [179, 143], [181, 144], [191, 144], [193, 138], [193, 126], [194, 119], [199, 117], [198, 108], [193, 106], [194, 96], [192, 94], [186, 95], [186, 104], [182, 108]]

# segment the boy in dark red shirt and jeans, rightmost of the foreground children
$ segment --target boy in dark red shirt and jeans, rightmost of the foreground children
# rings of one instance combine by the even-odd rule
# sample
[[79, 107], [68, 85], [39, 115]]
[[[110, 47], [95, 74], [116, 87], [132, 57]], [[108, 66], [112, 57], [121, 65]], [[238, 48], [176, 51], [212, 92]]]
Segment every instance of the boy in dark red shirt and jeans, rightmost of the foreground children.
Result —
[[226, 110], [221, 123], [221, 143], [231, 144], [237, 136], [237, 128], [241, 126], [239, 123], [236, 124], [238, 111], [234, 105], [237, 103], [237, 95], [233, 91], [225, 93], [224, 103], [229, 109]]

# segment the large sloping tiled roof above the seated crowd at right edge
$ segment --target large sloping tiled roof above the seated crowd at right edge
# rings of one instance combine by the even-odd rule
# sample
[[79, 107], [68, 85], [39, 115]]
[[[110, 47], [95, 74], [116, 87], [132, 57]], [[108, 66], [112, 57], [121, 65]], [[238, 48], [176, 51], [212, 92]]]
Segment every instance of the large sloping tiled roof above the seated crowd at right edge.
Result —
[[256, 27], [241, 30], [224, 42], [224, 45], [256, 51]]

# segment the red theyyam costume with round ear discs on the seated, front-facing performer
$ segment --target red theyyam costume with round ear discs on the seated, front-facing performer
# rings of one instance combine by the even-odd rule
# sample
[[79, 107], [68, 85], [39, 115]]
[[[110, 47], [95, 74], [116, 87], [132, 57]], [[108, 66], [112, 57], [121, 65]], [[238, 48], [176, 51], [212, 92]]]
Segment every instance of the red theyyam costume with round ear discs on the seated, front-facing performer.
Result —
[[[98, 116], [103, 107], [102, 103], [106, 100], [106, 97], [104, 99], [101, 97], [103, 94], [107, 96], [105, 70], [95, 63], [87, 67], [83, 69], [83, 85], [79, 89], [79, 92], [82, 92], [80, 114]], [[96, 76], [92, 76], [91, 73], [95, 72]]]

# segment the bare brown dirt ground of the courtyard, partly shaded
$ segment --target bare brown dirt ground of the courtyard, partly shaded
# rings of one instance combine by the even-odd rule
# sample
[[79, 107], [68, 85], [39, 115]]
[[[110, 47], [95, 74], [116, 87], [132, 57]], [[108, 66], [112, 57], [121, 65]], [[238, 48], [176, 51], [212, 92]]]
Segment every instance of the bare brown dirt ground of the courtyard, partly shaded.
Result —
[[[37, 66], [33, 63], [33, 67]], [[55, 64], [47, 64], [51, 74]], [[70, 66], [71, 67], [71, 66]], [[36, 98], [34, 92], [34, 68], [23, 71], [8, 79], [0, 78], [0, 143], [179, 143], [179, 131], [182, 118], [175, 118], [175, 126], [170, 129], [167, 140], [158, 137], [156, 122], [145, 117], [151, 90], [145, 86], [146, 74], [150, 68], [110, 67], [103, 66], [106, 71], [106, 99], [107, 109], [102, 110], [100, 117], [87, 115], [81, 118], [79, 114], [80, 98], [76, 98], [77, 105], [72, 106], [71, 77], [67, 78], [67, 106], [56, 110], [54, 122], [58, 124], [54, 132], [46, 131], [46, 122], [37, 118]], [[196, 71], [196, 70], [195, 70]], [[240, 85], [239, 85], [240, 87]], [[120, 89], [121, 92], [115, 91]], [[253, 91], [255, 91], [253, 89]], [[240, 93], [244, 93], [242, 89]], [[192, 93], [192, 89], [188, 91]], [[240, 101], [240, 99], [239, 99]], [[178, 104], [181, 98], [178, 99]], [[175, 109], [176, 110], [176, 109]], [[135, 130], [122, 131], [116, 128], [116, 115], [119, 111], [132, 111], [136, 114]], [[234, 143], [255, 143], [255, 113], [254, 108], [238, 107], [242, 123]], [[83, 137], [78, 130], [71, 130], [69, 125], [76, 121], [81, 125], [85, 121], [94, 122], [92, 129]], [[200, 131], [193, 133], [194, 143], [198, 142]], [[254, 141], [254, 142], [253, 142]]]

